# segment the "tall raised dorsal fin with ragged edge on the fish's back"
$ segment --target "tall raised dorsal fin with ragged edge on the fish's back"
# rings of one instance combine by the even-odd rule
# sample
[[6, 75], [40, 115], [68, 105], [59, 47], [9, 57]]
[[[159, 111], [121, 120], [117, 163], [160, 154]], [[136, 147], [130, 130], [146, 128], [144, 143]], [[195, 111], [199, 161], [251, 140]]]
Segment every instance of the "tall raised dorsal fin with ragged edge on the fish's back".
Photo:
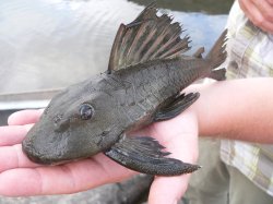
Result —
[[108, 71], [124, 69], [156, 59], [171, 59], [189, 49], [189, 37], [182, 39], [179, 23], [167, 14], [156, 15], [155, 3], [147, 5], [128, 25], [121, 24], [116, 35]]

